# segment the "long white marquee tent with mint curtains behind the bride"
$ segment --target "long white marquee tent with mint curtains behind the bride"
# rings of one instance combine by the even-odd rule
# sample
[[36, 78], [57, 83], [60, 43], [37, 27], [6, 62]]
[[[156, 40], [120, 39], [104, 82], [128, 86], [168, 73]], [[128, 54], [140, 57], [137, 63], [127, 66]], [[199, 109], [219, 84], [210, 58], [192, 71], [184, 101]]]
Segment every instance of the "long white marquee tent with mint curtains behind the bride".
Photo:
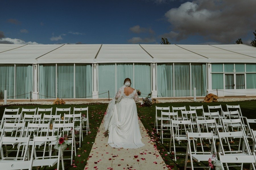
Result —
[[108, 98], [131, 78], [142, 97], [256, 95], [244, 44], [0, 44], [0, 98]]

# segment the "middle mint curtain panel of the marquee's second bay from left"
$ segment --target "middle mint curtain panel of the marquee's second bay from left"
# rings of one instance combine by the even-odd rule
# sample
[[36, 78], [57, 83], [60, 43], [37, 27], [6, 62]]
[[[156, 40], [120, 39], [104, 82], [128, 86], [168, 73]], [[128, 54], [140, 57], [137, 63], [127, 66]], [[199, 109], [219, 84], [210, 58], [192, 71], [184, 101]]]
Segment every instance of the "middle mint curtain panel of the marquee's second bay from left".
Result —
[[74, 64], [57, 64], [57, 97], [74, 98]]

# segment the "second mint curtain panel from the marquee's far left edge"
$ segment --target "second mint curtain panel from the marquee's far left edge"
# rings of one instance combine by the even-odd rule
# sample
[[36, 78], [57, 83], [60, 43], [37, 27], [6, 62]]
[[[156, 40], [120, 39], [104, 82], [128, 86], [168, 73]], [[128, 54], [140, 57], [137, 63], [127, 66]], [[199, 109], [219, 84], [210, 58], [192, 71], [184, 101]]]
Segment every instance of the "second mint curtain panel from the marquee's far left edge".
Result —
[[32, 88], [32, 64], [16, 64], [16, 99], [30, 99], [30, 92], [33, 92]]

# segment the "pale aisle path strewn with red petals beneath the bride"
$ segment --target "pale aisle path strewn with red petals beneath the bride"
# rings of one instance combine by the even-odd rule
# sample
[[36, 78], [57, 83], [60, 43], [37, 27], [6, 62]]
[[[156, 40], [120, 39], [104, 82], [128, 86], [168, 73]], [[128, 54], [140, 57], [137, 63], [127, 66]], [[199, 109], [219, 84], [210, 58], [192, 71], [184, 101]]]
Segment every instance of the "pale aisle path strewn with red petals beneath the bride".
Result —
[[[88, 170], [148, 170], [168, 169], [154, 143], [139, 120], [142, 142], [145, 146], [137, 149], [112, 148], [105, 137], [103, 122], [100, 125], [84, 169]], [[136, 158], [135, 158], [136, 157]]]

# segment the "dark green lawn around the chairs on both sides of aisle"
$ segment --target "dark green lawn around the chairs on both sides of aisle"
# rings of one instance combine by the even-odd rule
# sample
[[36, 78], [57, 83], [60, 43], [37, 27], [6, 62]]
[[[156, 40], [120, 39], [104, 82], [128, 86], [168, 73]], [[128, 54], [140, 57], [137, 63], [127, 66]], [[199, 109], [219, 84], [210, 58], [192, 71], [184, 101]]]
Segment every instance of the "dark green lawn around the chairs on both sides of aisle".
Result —
[[[184, 168], [184, 160], [185, 156], [179, 156], [179, 159], [177, 161], [173, 161], [173, 155], [168, 154], [169, 152], [169, 143], [170, 141], [168, 139], [164, 140], [164, 144], [160, 142], [159, 135], [156, 134], [156, 131], [154, 129], [154, 118], [155, 118], [155, 106], [159, 107], [182, 107], [186, 106], [187, 110], [189, 110], [190, 106], [201, 106], [203, 105], [205, 111], [207, 111], [207, 105], [222, 105], [222, 109], [226, 111], [226, 104], [228, 105], [240, 105], [241, 111], [243, 113], [243, 116], [246, 116], [247, 118], [255, 118], [256, 114], [256, 101], [238, 101], [238, 102], [218, 102], [218, 103], [198, 103], [198, 102], [181, 102], [181, 103], [158, 103], [153, 104], [151, 107], [141, 107], [139, 103], [137, 104], [137, 110], [138, 110], [138, 116], [140, 120], [142, 121], [144, 127], [147, 129], [149, 136], [152, 139], [156, 140], [156, 146], [158, 151], [160, 152], [161, 156], [163, 157], [165, 163], [167, 165], [174, 165], [173, 169], [183, 169]], [[75, 166], [77, 166], [77, 169], [83, 169], [87, 158], [89, 156], [90, 150], [92, 148], [93, 142], [95, 140], [96, 134], [97, 134], [97, 127], [100, 126], [103, 117], [104, 112], [106, 111], [107, 104], [104, 103], [92, 103], [92, 104], [86, 104], [86, 105], [12, 105], [12, 106], [0, 106], [0, 117], [2, 117], [3, 111], [6, 108], [8, 109], [16, 109], [24, 107], [26, 109], [28, 108], [51, 108], [53, 107], [53, 114], [55, 114], [56, 107], [58, 108], [69, 108], [71, 107], [71, 113], [73, 113], [73, 108], [77, 107], [89, 107], [89, 122], [90, 122], [90, 132], [88, 135], [84, 134], [84, 141], [81, 145], [81, 148], [77, 150], [77, 156], [74, 157], [74, 163]], [[200, 115], [200, 113], [199, 113]], [[251, 128], [256, 129], [256, 126], [251, 126]], [[153, 132], [153, 133], [152, 133]], [[186, 145], [186, 143], [182, 143], [183, 146]], [[77, 145], [77, 148], [79, 145]], [[185, 152], [185, 150], [180, 150], [181, 152]], [[167, 155], [166, 155], [167, 154]], [[79, 156], [80, 155], [80, 156]], [[75, 169], [73, 166], [70, 166], [69, 160], [65, 161], [65, 169]], [[43, 167], [41, 169], [55, 169], [55, 167]]]

